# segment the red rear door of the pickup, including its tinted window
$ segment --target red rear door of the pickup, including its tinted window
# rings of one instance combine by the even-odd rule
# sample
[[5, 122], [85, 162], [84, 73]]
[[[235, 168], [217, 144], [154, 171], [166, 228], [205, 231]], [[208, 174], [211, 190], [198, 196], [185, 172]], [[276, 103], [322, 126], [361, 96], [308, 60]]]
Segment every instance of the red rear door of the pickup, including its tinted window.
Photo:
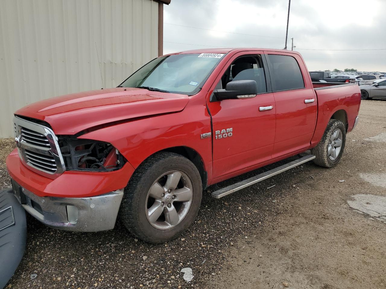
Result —
[[310, 79], [303, 77], [307, 72], [300, 56], [267, 52], [266, 57], [276, 103], [272, 157], [277, 158], [310, 146], [316, 124], [317, 99]]

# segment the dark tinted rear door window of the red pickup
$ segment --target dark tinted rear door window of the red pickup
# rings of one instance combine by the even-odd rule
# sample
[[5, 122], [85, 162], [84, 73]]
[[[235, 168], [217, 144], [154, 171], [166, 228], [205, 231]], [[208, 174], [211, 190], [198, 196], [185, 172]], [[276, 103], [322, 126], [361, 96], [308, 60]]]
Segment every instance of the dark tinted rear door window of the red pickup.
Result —
[[267, 59], [273, 91], [304, 88], [303, 75], [294, 57], [268, 54]]

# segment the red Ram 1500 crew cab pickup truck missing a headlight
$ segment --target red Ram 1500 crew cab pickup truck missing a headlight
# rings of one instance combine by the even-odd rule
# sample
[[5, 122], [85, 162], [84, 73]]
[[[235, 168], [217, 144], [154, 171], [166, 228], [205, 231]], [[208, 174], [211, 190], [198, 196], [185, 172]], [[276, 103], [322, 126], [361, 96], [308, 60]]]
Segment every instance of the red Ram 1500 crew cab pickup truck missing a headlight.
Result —
[[306, 161], [336, 165], [360, 103], [356, 84], [313, 84], [297, 52], [179, 52], [119, 87], [19, 109], [7, 168], [22, 206], [50, 227], [109, 230], [119, 215], [133, 235], [160, 243], [191, 225], [208, 185], [307, 150], [212, 196]]

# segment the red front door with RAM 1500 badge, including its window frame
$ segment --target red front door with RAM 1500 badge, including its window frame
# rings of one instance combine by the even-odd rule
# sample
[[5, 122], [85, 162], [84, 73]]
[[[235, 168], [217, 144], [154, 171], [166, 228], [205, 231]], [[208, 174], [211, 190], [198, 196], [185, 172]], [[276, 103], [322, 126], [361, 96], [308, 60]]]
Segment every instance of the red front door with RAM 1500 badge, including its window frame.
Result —
[[230, 81], [252, 79], [258, 91], [256, 97], [249, 99], [211, 102], [208, 97], [213, 125], [214, 179], [271, 160], [276, 106], [266, 74], [262, 52], [239, 53], [229, 60], [213, 84], [211, 91], [225, 88]]

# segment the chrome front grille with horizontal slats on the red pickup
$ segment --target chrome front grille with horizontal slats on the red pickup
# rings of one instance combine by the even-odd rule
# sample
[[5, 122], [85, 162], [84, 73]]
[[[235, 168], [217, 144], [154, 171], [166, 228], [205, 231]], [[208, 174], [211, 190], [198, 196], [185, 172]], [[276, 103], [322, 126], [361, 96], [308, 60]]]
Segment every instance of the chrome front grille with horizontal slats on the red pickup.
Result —
[[30, 170], [49, 178], [66, 170], [58, 138], [51, 128], [14, 117], [15, 141], [20, 159]]

